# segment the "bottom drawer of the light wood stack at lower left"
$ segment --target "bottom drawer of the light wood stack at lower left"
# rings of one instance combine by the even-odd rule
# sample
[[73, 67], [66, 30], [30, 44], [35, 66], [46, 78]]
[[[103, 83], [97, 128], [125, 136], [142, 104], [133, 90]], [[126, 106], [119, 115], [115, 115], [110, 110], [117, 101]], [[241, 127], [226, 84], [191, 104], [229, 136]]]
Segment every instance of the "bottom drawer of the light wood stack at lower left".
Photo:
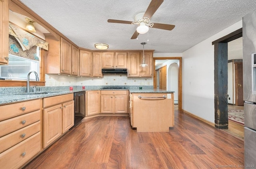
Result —
[[19, 168], [40, 152], [41, 134], [34, 134], [30, 138], [18, 143], [14, 147], [0, 154], [1, 167], [6, 169]]

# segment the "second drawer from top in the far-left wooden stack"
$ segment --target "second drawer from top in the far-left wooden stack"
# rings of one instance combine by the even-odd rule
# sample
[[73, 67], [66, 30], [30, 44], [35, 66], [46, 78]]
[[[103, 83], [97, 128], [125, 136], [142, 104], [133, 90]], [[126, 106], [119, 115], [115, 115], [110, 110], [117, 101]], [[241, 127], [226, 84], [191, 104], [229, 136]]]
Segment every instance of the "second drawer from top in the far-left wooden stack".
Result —
[[0, 137], [40, 120], [40, 110], [0, 122]]

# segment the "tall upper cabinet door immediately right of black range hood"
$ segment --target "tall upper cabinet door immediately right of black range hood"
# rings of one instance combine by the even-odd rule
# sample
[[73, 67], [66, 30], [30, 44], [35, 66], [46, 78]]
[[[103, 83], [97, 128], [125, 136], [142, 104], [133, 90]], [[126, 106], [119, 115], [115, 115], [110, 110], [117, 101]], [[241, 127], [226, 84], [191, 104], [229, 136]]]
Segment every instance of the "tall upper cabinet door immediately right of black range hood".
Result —
[[128, 52], [127, 77], [140, 77], [140, 53], [139, 52]]

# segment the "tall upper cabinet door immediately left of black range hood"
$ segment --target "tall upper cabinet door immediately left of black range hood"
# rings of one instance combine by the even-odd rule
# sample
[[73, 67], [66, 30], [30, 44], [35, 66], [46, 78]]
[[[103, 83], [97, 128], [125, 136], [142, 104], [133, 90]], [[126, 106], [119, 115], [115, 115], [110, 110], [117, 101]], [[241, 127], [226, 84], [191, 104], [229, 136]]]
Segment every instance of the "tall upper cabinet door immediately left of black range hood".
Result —
[[102, 77], [102, 53], [93, 52], [92, 55], [92, 76]]

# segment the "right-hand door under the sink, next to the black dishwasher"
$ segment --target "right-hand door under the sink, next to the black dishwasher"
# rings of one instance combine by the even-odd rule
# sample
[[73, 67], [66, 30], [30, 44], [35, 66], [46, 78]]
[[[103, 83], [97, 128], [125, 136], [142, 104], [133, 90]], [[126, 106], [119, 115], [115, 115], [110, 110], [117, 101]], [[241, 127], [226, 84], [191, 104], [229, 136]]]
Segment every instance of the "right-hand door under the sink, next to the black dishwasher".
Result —
[[62, 133], [74, 126], [74, 100], [63, 103], [62, 110]]

